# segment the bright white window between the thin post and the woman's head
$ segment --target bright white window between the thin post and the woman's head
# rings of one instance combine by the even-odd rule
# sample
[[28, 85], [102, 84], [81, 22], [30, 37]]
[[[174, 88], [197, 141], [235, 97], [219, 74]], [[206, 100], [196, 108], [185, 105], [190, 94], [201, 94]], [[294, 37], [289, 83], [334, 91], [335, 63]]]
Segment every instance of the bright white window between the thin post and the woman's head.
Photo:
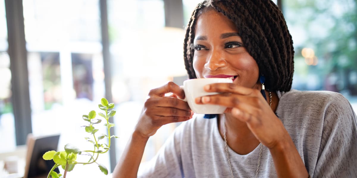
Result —
[[[184, 30], [165, 27], [162, 0], [109, 0], [108, 21], [119, 159], [150, 89], [186, 75], [182, 57]], [[175, 127], [165, 125], [149, 139], [143, 161], [155, 155]]]

